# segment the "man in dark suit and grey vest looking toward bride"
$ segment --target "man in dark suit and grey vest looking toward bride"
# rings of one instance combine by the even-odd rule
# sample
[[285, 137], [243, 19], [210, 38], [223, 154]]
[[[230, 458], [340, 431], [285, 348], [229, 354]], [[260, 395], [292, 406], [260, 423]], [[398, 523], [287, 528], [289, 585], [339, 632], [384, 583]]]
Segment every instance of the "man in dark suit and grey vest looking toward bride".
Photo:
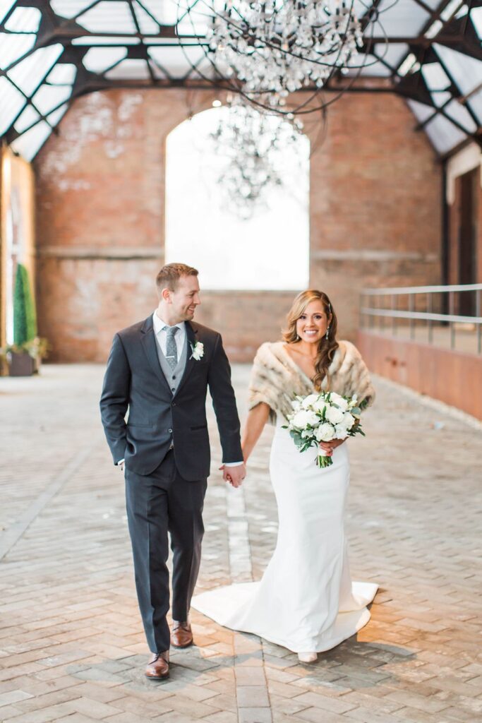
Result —
[[[189, 606], [199, 572], [210, 474], [208, 386], [223, 448], [223, 477], [238, 487], [246, 474], [221, 337], [192, 322], [201, 303], [197, 273], [185, 264], [160, 270], [158, 308], [114, 336], [100, 398], [113, 461], [121, 469], [125, 465], [137, 598], [152, 651], [146, 675], [155, 680], [169, 675], [170, 644], [192, 644]], [[173, 550], [171, 633], [166, 621], [168, 532]]]

